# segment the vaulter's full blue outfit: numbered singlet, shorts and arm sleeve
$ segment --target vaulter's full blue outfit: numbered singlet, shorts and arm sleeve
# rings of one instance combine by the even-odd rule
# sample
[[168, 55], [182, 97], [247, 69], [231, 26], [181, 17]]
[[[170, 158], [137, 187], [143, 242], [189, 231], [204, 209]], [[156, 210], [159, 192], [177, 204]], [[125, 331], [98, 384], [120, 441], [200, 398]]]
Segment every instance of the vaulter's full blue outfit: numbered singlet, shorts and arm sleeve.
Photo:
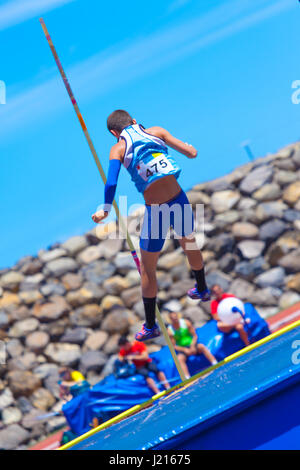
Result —
[[[126, 127], [119, 139], [125, 140], [123, 164], [139, 192], [144, 193], [150, 184], [167, 175], [175, 178], [180, 175], [181, 169], [168, 154], [165, 142], [148, 134], [141, 125]], [[120, 166], [120, 160], [110, 160], [105, 186], [104, 210], [107, 211], [115, 196]], [[161, 251], [170, 226], [178, 237], [187, 237], [193, 232], [193, 212], [184, 191], [168, 202], [146, 205], [140, 247], [150, 252]]]

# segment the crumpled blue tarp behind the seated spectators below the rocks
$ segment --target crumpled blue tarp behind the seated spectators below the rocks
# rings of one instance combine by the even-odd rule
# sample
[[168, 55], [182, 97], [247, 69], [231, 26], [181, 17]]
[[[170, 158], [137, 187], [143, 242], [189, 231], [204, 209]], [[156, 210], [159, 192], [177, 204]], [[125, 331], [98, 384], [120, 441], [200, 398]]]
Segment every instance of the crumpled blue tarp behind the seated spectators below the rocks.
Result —
[[[245, 303], [244, 306], [246, 318], [251, 320], [247, 326], [250, 341], [258, 341], [270, 334], [267, 323], [259, 316], [253, 305]], [[205, 344], [218, 361], [244, 347], [238, 332], [221, 333], [214, 320], [197, 328], [196, 332], [198, 342]], [[179, 374], [167, 346], [150, 356], [159, 369], [165, 372], [172, 386], [180, 383]], [[187, 364], [191, 375], [210, 365], [204, 356], [191, 356]], [[152, 376], [155, 379], [155, 376]], [[164, 390], [163, 385], [158, 384], [158, 386], [160, 390]], [[141, 375], [137, 374], [125, 379], [117, 379], [114, 375], [109, 375], [90, 390], [66, 403], [62, 411], [72, 431], [81, 435], [91, 429], [94, 417], [106, 421], [136, 404], [147, 401], [151, 396], [152, 392]]]

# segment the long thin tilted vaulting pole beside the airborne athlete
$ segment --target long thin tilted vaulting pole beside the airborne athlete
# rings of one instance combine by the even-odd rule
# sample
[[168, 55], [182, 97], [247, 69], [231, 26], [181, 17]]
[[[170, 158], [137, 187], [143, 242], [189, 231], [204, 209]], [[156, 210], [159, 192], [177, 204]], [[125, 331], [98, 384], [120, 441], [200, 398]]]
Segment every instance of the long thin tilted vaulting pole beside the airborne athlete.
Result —
[[[77, 101], [75, 100], [74, 94], [73, 94], [72, 89], [71, 89], [70, 84], [69, 84], [69, 81], [68, 81], [67, 76], [66, 76], [66, 74], [65, 74], [65, 72], [64, 72], [64, 69], [63, 69], [63, 67], [62, 67], [62, 64], [61, 64], [61, 62], [60, 62], [60, 60], [59, 60], [59, 57], [58, 57], [57, 52], [56, 52], [56, 49], [55, 49], [55, 47], [54, 47], [54, 45], [53, 45], [52, 39], [51, 39], [51, 37], [50, 37], [50, 34], [49, 34], [48, 30], [47, 30], [47, 27], [46, 27], [46, 24], [45, 24], [43, 18], [40, 18], [40, 23], [41, 23], [41, 25], [42, 25], [44, 34], [45, 34], [46, 39], [47, 39], [47, 41], [48, 41], [49, 47], [50, 47], [51, 52], [52, 52], [52, 54], [53, 54], [53, 57], [54, 57], [54, 60], [55, 60], [55, 62], [56, 62], [56, 65], [57, 65], [57, 67], [58, 67], [58, 70], [59, 70], [59, 72], [60, 72], [60, 74], [61, 74], [61, 77], [62, 77], [63, 82], [64, 82], [64, 84], [65, 84], [65, 87], [66, 87], [66, 89], [67, 89], [67, 92], [68, 92], [68, 95], [69, 95], [69, 97], [70, 97], [70, 100], [72, 101], [74, 110], [75, 110], [76, 115], [77, 115], [77, 117], [78, 117], [78, 119], [79, 119], [81, 128], [82, 128], [82, 130], [83, 130], [83, 132], [84, 132], [84, 135], [85, 135], [85, 138], [86, 138], [86, 140], [87, 140], [87, 143], [88, 143], [88, 145], [89, 145], [89, 147], [90, 147], [90, 150], [91, 150], [91, 152], [92, 152], [92, 154], [93, 154], [94, 160], [95, 160], [96, 165], [97, 165], [97, 167], [98, 167], [98, 170], [99, 170], [99, 173], [100, 173], [101, 178], [102, 178], [102, 180], [103, 180], [103, 183], [106, 184], [106, 175], [105, 175], [105, 173], [104, 173], [104, 170], [103, 170], [102, 165], [101, 165], [101, 163], [100, 163], [100, 160], [99, 160], [99, 158], [98, 158], [96, 149], [95, 149], [94, 144], [93, 144], [93, 142], [92, 142], [92, 139], [91, 139], [91, 137], [90, 137], [90, 135], [89, 135], [89, 132], [88, 132], [87, 127], [86, 127], [86, 125], [85, 125], [84, 119], [83, 119], [82, 114], [81, 114], [81, 112], [80, 112], [80, 110], [79, 110]], [[138, 271], [139, 271], [139, 273], [140, 273], [140, 272], [141, 272], [141, 271], [140, 271], [140, 260], [139, 260], [139, 258], [138, 258], [138, 255], [137, 255], [136, 251], [135, 251], [134, 245], [133, 245], [132, 240], [131, 240], [131, 238], [130, 238], [130, 235], [129, 235], [129, 233], [128, 233], [127, 227], [126, 227], [126, 225], [125, 225], [125, 223], [124, 223], [123, 217], [122, 217], [121, 214], [120, 214], [119, 207], [118, 207], [116, 201], [113, 201], [113, 207], [114, 207], [114, 209], [115, 209], [115, 211], [116, 211], [117, 218], [118, 218], [118, 220], [119, 220], [121, 230], [122, 230], [123, 233], [126, 233], [126, 239], [127, 239], [127, 243], [128, 243], [130, 252], [131, 252], [132, 257], [133, 257], [133, 259], [134, 259], [134, 261], [135, 261], [136, 267], [137, 267], [137, 269], [138, 269]], [[176, 355], [174, 346], [173, 346], [173, 344], [172, 344], [172, 342], [171, 342], [171, 340], [170, 340], [170, 337], [169, 337], [169, 335], [168, 335], [167, 329], [166, 329], [166, 327], [165, 327], [165, 324], [164, 324], [164, 322], [163, 322], [163, 319], [162, 319], [162, 317], [161, 317], [161, 314], [160, 314], [160, 311], [159, 311], [159, 308], [158, 308], [157, 305], [156, 305], [156, 309], [155, 309], [155, 314], [156, 314], [156, 318], [157, 318], [157, 320], [158, 320], [160, 329], [161, 329], [161, 331], [162, 331], [162, 333], [163, 333], [163, 335], [164, 335], [164, 338], [165, 338], [165, 340], [166, 340], [166, 343], [167, 343], [167, 345], [168, 345], [168, 347], [169, 347], [169, 349], [170, 349], [170, 352], [171, 352], [171, 354], [172, 354], [172, 357], [173, 357], [173, 360], [174, 360], [174, 362], [175, 362], [175, 365], [176, 365], [177, 371], [178, 371], [178, 373], [179, 373], [179, 376], [180, 376], [181, 380], [184, 381], [184, 380], [185, 380], [185, 375], [184, 375], [183, 370], [182, 370], [182, 368], [181, 368], [181, 365], [180, 365], [180, 363], [179, 363], [179, 361], [178, 361], [178, 357], [177, 357], [177, 355]]]

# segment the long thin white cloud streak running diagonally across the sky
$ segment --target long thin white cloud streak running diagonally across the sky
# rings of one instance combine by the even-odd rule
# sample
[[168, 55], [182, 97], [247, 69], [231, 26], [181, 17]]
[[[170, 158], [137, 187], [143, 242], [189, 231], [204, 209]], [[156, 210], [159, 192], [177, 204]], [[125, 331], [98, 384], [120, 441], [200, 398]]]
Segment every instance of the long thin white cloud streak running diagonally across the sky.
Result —
[[[107, 94], [123, 84], [161, 70], [211, 44], [278, 15], [294, 6], [293, 0], [240, 0], [218, 7], [200, 18], [159, 31], [121, 49], [115, 46], [67, 70], [79, 101]], [[120, 73], [122, 70], [122, 73]], [[56, 77], [10, 100], [0, 108], [0, 135], [24, 123], [45, 118], [63, 110], [68, 103], [63, 83]]]

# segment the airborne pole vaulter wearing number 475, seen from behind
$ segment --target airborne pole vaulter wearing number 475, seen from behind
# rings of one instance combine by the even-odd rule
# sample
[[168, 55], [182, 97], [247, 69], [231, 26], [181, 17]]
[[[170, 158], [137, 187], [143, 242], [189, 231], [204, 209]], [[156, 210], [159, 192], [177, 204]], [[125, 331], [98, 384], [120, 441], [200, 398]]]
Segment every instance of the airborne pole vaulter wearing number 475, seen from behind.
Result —
[[160, 335], [155, 320], [156, 266], [170, 226], [187, 255], [196, 279], [195, 287], [188, 291], [188, 295], [204, 302], [210, 300], [202, 254], [193, 235], [192, 208], [178, 184], [181, 169], [169, 155], [168, 146], [188, 158], [196, 158], [197, 150], [162, 127], [145, 129], [124, 110], [111, 113], [107, 127], [117, 143], [110, 151], [104, 207], [93, 214], [92, 219], [101, 223], [108, 216], [123, 164], [137, 190], [143, 194], [146, 208], [140, 237], [141, 285], [146, 321], [136, 335], [137, 341], [145, 341]]

